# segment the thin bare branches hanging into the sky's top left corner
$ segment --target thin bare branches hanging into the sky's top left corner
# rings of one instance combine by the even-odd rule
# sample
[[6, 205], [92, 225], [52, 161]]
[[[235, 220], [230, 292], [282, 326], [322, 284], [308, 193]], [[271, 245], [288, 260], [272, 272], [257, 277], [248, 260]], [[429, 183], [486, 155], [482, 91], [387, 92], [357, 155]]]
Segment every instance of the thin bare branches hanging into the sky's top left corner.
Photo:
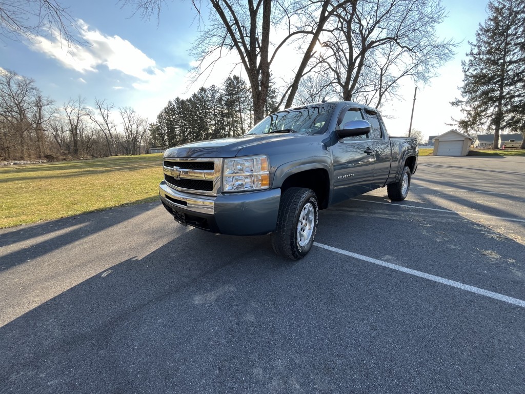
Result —
[[34, 42], [44, 34], [68, 46], [85, 44], [77, 31], [75, 18], [57, 0], [0, 0], [0, 39]]

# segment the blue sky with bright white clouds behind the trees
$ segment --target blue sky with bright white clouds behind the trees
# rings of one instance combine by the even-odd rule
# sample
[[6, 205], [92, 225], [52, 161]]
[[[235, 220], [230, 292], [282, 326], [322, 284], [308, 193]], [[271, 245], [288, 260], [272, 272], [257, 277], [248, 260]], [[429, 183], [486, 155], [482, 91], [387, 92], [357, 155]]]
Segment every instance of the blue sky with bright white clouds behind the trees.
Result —
[[[43, 94], [56, 100], [57, 105], [79, 95], [88, 105], [93, 105], [95, 98], [107, 99], [116, 107], [131, 106], [154, 121], [169, 99], [187, 97], [202, 85], [220, 84], [232, 70], [232, 63], [225, 60], [207, 81], [188, 88], [187, 72], [194, 61], [188, 49], [198, 27], [191, 2], [168, 1], [159, 24], [156, 18], [148, 22], [132, 16], [131, 8], [121, 8], [114, 2], [64, 0], [62, 4], [80, 19], [82, 34], [92, 46], [65, 55], [65, 48], [45, 38], [38, 44], [0, 42], [0, 67], [35, 79]], [[463, 78], [461, 59], [468, 50], [467, 40], [474, 40], [478, 24], [486, 18], [486, 0], [443, 0], [442, 4], [449, 17], [438, 27], [439, 35], [463, 40], [463, 45], [457, 49], [455, 59], [439, 69], [438, 78], [429, 86], [418, 87], [413, 127], [427, 136], [447, 131], [450, 127], [445, 122], [450, 116], [460, 116], [449, 101], [459, 95], [457, 86]], [[292, 63], [282, 58], [276, 62], [273, 74], [289, 75]], [[382, 109], [388, 116], [387, 128], [394, 135], [408, 130], [414, 95], [411, 80], [406, 81], [401, 94], [404, 100]]]

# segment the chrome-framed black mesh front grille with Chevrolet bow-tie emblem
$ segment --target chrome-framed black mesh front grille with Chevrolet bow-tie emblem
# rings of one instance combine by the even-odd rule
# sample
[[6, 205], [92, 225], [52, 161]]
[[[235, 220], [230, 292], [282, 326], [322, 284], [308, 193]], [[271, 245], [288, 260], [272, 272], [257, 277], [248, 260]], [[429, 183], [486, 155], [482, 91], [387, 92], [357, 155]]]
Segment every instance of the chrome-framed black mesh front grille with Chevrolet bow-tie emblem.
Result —
[[217, 195], [222, 164], [223, 159], [164, 158], [164, 180], [178, 191]]

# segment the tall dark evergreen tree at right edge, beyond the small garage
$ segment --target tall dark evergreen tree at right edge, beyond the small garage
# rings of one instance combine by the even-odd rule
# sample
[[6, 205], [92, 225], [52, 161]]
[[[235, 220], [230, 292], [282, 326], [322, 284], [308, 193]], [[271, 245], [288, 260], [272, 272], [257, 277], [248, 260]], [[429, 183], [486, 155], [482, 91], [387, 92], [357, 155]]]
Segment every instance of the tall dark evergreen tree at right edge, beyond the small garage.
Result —
[[499, 148], [501, 130], [523, 132], [525, 117], [525, 3], [520, 0], [491, 0], [488, 17], [469, 43], [468, 61], [460, 88], [465, 118], [458, 127], [465, 132], [485, 125], [494, 131], [493, 148]]

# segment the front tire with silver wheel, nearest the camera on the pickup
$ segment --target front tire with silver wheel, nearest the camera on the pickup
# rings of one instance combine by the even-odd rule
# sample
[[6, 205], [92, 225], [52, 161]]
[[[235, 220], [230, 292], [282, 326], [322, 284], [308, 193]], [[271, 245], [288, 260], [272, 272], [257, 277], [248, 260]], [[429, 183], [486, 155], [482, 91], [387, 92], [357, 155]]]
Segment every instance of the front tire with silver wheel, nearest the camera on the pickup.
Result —
[[316, 237], [319, 204], [316, 193], [306, 188], [290, 188], [281, 195], [277, 227], [271, 245], [282, 257], [299, 260], [307, 255]]

